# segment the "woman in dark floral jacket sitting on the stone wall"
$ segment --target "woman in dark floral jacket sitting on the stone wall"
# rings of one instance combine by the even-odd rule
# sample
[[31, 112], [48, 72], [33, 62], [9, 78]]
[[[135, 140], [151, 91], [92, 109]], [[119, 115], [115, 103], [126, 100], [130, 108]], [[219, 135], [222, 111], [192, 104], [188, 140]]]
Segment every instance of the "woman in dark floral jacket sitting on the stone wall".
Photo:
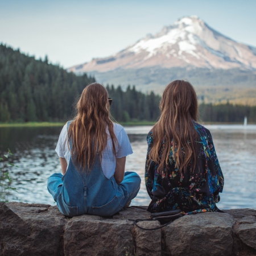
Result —
[[212, 135], [197, 123], [197, 97], [183, 80], [163, 92], [161, 115], [147, 136], [145, 182], [150, 212], [216, 212], [224, 177]]

